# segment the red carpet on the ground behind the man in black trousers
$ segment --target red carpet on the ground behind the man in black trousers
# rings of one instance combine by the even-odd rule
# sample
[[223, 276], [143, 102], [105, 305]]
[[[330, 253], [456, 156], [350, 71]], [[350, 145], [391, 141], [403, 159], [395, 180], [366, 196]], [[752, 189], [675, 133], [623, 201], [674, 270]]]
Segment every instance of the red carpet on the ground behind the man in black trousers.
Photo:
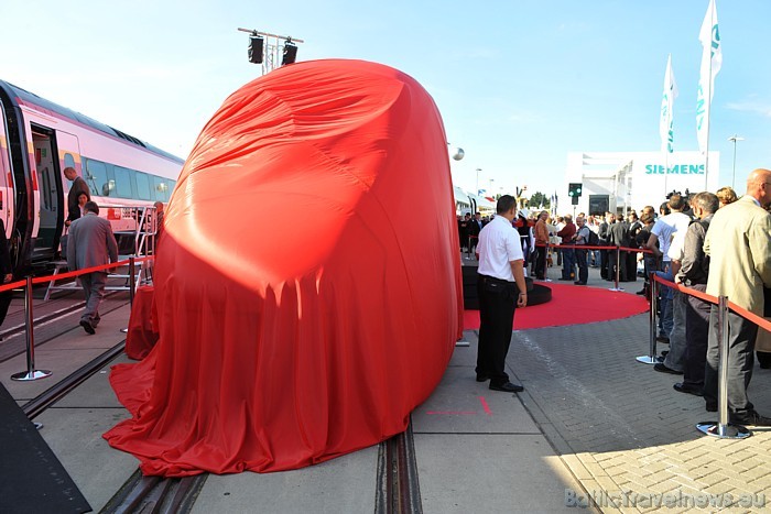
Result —
[[[514, 330], [561, 327], [628, 318], [648, 310], [643, 296], [615, 293], [607, 288], [537, 282], [552, 289], [552, 300], [517, 309]], [[464, 311], [464, 329], [479, 328], [479, 310]]]

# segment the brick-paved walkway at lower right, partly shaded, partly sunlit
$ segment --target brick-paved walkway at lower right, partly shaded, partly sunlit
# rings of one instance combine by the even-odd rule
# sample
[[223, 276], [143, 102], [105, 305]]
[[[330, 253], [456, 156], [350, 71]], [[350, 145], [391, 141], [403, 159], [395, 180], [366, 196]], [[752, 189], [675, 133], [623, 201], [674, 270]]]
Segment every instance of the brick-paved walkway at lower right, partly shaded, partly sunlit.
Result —
[[[640, 315], [514, 332], [508, 365], [525, 386], [525, 407], [585, 490], [574, 503], [588, 495], [601, 512], [729, 503], [730, 512], [771, 512], [771, 429], [753, 429], [746, 440], [698, 433], [696, 423], [716, 414], [672, 389], [681, 376], [634, 360], [648, 353], [648, 322]], [[771, 414], [771, 370], [756, 368], [749, 394]]]

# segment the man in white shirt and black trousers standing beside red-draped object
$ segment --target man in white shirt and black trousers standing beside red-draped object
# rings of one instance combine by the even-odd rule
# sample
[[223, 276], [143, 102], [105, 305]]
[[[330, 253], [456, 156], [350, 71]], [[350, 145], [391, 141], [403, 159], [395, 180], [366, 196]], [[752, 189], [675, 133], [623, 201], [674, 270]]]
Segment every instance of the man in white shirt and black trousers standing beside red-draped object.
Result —
[[496, 212], [498, 216], [479, 232], [477, 245], [480, 318], [477, 382], [489, 380], [492, 391], [518, 393], [524, 387], [511, 383], [504, 369], [514, 308], [528, 305], [522, 244], [519, 232], [511, 226], [517, 216], [517, 199], [501, 196]]

